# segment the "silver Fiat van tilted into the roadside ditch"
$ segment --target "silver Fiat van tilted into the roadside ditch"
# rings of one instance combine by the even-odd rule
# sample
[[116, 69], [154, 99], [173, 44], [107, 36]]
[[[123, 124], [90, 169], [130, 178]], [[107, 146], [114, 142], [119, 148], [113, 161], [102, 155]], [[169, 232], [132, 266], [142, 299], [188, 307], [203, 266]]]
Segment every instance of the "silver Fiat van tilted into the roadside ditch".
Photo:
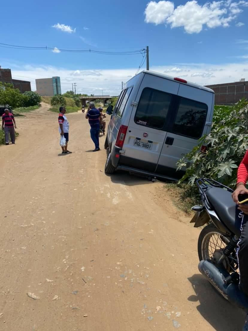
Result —
[[[177, 162], [211, 130], [214, 91], [185, 79], [142, 71], [121, 91], [104, 147], [105, 173], [116, 169], [168, 179], [182, 177]], [[203, 146], [204, 148], [204, 146]]]

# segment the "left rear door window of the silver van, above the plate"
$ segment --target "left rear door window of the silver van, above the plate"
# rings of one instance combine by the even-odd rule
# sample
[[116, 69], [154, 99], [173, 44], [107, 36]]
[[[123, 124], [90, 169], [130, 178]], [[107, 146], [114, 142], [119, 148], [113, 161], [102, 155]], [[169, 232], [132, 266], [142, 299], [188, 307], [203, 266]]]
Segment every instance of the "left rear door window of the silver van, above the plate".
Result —
[[162, 129], [171, 100], [171, 94], [145, 87], [134, 117], [135, 123]]

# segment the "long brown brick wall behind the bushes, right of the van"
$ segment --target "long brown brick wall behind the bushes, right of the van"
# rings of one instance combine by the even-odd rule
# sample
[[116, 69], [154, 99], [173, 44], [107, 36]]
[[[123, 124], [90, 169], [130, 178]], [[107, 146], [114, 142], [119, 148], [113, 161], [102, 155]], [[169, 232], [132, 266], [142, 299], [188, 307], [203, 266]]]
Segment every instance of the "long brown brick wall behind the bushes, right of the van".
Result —
[[215, 91], [215, 104], [228, 105], [238, 102], [240, 99], [248, 99], [248, 81], [207, 85]]

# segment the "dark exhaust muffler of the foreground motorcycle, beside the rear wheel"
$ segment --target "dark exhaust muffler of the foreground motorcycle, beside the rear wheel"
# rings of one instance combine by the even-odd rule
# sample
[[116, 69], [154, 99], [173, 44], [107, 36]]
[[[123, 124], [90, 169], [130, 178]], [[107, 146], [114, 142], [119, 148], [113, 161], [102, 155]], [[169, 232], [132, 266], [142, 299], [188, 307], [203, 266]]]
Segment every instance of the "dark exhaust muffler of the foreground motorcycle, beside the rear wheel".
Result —
[[215, 266], [209, 260], [200, 261], [198, 269], [225, 299], [248, 311], [248, 297], [239, 290], [238, 285], [234, 283], [225, 284], [224, 279], [229, 276], [226, 270]]

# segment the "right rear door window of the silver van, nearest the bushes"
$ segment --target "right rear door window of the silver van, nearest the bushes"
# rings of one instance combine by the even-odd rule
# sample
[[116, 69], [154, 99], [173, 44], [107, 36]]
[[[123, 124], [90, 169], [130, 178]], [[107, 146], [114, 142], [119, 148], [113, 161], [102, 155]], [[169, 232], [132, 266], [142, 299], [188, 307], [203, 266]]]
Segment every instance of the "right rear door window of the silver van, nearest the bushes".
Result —
[[181, 99], [173, 125], [173, 133], [199, 139], [205, 125], [208, 106], [201, 102]]

